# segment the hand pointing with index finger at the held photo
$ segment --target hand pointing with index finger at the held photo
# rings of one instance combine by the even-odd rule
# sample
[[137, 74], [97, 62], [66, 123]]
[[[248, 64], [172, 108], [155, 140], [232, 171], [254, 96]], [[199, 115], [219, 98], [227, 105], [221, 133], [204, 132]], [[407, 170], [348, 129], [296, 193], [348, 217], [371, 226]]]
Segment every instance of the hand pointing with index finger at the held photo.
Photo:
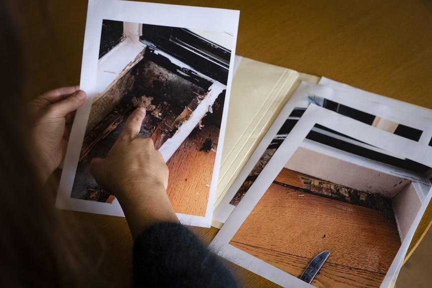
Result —
[[168, 167], [151, 138], [140, 137], [143, 108], [135, 109], [105, 159], [94, 158], [96, 182], [117, 197], [135, 239], [158, 222], [178, 222], [166, 194]]

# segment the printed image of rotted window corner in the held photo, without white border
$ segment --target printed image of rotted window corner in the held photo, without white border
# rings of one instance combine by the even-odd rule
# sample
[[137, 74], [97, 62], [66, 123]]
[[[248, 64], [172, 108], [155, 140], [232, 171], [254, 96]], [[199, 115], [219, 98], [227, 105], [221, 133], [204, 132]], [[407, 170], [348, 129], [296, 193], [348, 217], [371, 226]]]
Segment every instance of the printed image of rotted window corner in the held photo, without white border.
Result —
[[225, 32], [104, 20], [96, 84], [103, 92], [93, 99], [71, 197], [114, 200], [91, 176], [90, 160], [106, 156], [141, 106], [140, 135], [167, 161], [176, 212], [205, 215], [232, 43]]

